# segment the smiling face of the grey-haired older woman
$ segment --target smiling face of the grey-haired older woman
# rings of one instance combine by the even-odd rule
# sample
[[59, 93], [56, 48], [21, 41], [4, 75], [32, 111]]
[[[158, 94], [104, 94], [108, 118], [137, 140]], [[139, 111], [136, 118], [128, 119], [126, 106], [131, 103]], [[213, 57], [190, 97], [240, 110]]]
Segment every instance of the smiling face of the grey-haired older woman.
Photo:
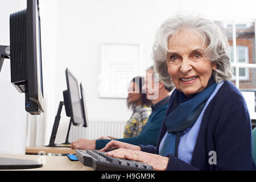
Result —
[[205, 56], [206, 45], [195, 32], [180, 31], [168, 39], [167, 67], [176, 89], [186, 96], [205, 89], [217, 65]]

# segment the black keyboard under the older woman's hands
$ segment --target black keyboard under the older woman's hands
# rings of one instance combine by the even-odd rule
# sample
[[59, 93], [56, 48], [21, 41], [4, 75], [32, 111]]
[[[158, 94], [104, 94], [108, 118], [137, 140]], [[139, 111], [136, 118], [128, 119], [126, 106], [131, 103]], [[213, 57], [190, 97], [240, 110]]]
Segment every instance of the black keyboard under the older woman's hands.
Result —
[[152, 171], [153, 167], [134, 160], [118, 159], [96, 150], [76, 150], [76, 158], [96, 171]]

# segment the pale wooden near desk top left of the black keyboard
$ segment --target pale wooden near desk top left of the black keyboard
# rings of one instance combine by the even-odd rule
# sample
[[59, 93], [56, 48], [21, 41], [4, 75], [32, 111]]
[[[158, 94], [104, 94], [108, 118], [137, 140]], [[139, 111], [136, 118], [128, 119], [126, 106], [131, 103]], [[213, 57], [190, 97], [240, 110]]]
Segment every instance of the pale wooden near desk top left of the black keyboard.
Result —
[[40, 160], [44, 163], [40, 168], [22, 169], [25, 171], [93, 171], [93, 168], [84, 166], [80, 161], [71, 161], [67, 156], [0, 154], [0, 158]]

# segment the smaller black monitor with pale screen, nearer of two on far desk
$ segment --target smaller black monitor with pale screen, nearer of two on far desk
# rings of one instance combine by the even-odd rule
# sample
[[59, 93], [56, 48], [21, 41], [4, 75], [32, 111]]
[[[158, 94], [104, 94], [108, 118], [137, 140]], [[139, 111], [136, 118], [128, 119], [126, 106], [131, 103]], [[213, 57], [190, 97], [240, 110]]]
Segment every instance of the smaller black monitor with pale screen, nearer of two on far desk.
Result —
[[[65, 73], [68, 88], [67, 94], [64, 96], [66, 114], [71, 117], [73, 125], [84, 125], [84, 116], [82, 114], [82, 105], [80, 102], [77, 79], [68, 68]], [[67, 97], [67, 99], [65, 97]], [[66, 101], [68, 101], [68, 103]]]

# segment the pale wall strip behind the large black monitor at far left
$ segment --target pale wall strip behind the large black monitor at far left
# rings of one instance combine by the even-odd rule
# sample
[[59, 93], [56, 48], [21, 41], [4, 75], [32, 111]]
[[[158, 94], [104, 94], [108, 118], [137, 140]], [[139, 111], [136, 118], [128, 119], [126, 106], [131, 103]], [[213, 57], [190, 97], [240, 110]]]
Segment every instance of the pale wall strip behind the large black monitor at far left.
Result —
[[[9, 46], [9, 16], [26, 7], [24, 1], [1, 0], [0, 45]], [[0, 153], [23, 154], [26, 142], [25, 96], [11, 84], [10, 59], [0, 73]]]

